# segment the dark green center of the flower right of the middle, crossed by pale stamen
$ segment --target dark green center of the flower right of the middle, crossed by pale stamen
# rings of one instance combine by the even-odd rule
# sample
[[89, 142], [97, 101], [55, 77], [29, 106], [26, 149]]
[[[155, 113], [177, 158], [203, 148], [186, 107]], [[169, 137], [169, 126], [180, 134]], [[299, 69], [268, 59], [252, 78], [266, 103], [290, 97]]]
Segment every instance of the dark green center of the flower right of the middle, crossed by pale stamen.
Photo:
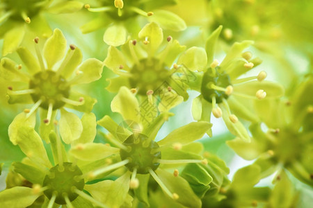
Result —
[[211, 88], [211, 84], [223, 88], [231, 85], [230, 76], [228, 76], [227, 73], [219, 73], [218, 67], [216, 67], [216, 69], [216, 73], [214, 74], [211, 71], [211, 68], [209, 68], [207, 72], [204, 73], [202, 78], [201, 94], [204, 99], [210, 103], [212, 103], [212, 98], [214, 96], [216, 98], [216, 103], [222, 103], [223, 98], [228, 98], [225, 92]]

